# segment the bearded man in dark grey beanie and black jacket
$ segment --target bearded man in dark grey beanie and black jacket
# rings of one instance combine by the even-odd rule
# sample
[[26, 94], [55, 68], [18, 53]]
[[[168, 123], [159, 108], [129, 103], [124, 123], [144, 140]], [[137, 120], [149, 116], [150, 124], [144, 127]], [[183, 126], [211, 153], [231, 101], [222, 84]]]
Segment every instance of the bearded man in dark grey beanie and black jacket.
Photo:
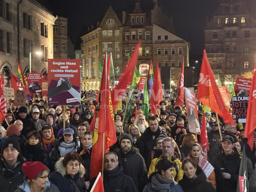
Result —
[[124, 174], [130, 176], [137, 190], [142, 192], [147, 180], [145, 161], [132, 146], [133, 139], [131, 135], [124, 133], [120, 136], [119, 141], [121, 145], [121, 150], [117, 153], [119, 163], [124, 169]]

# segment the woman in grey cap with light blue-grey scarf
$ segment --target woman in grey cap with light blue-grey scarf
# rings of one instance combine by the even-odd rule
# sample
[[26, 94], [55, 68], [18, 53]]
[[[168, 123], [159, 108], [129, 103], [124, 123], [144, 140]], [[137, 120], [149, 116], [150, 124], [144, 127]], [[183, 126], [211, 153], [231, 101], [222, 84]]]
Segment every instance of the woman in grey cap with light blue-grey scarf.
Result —
[[71, 128], [66, 128], [59, 140], [59, 145], [54, 147], [49, 154], [50, 169], [54, 170], [54, 165], [60, 159], [60, 157], [64, 157], [69, 152], [76, 152], [77, 147], [77, 139], [74, 135], [74, 130]]

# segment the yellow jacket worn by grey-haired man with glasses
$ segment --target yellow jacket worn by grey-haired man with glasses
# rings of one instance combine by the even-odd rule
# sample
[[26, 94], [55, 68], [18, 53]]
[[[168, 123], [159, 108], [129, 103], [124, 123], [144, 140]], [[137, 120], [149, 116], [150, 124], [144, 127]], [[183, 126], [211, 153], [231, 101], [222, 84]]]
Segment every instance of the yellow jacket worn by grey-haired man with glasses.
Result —
[[[164, 159], [166, 157], [163, 157], [162, 155], [159, 158], [153, 159], [151, 161], [151, 164], [149, 166], [148, 170], [148, 177], [156, 170], [156, 164], [161, 159]], [[175, 156], [167, 157], [167, 160], [174, 163], [174, 170], [173, 170], [173, 178], [176, 182], [179, 182], [183, 177], [183, 170], [181, 169], [181, 162], [179, 159], [177, 159]], [[177, 170], [177, 171], [176, 171]], [[178, 172], [178, 173], [177, 173]], [[177, 175], [178, 174], [178, 175]], [[176, 176], [177, 175], [177, 176]]]

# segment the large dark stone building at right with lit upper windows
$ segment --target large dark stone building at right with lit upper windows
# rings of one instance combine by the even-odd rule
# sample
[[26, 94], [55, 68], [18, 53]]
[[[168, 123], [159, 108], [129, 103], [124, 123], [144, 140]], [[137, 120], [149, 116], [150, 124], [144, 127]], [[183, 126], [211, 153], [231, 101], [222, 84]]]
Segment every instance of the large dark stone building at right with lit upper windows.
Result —
[[215, 75], [234, 82], [253, 70], [256, 59], [256, 20], [246, 0], [220, 0], [205, 26], [205, 49]]

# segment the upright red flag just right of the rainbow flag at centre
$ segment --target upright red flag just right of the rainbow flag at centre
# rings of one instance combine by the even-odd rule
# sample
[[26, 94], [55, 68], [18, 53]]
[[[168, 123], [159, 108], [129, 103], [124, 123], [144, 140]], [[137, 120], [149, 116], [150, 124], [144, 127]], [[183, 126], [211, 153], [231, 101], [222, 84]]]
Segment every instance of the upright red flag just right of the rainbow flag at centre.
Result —
[[154, 84], [153, 84], [153, 92], [151, 95], [150, 109], [153, 114], [156, 115], [157, 112], [157, 104], [163, 100], [163, 90], [162, 90], [162, 82], [161, 75], [159, 71], [158, 61], [156, 64], [156, 71], [154, 76]]

